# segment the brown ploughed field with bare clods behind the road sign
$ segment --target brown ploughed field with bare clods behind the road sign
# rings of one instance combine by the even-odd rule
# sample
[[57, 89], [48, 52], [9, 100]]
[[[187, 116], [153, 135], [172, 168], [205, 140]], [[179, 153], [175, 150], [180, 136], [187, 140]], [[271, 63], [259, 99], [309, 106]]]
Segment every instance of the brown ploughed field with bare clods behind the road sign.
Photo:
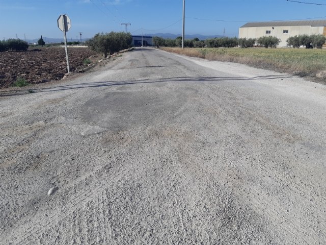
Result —
[[[85, 66], [84, 59], [96, 55], [85, 47], [68, 48], [70, 71]], [[0, 53], [0, 88], [11, 86], [18, 78], [29, 83], [60, 80], [67, 73], [64, 47], [48, 47], [26, 52]]]

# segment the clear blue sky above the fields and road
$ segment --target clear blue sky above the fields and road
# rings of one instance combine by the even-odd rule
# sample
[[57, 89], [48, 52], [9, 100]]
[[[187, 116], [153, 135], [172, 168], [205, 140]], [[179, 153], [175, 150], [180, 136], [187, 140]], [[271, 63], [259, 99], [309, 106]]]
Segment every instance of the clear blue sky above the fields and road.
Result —
[[[301, 1], [326, 4], [326, 1]], [[185, 33], [238, 36], [246, 22], [326, 18], [326, 6], [286, 0], [185, 0]], [[182, 0], [0, 0], [0, 39], [61, 38], [60, 14], [71, 19], [68, 40], [98, 32], [133, 35], [182, 32]]]

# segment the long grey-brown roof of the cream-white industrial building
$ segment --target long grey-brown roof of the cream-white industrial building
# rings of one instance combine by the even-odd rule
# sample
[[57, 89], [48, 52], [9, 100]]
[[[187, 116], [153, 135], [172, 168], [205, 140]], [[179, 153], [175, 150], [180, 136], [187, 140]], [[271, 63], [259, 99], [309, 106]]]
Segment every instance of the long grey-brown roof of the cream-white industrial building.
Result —
[[[290, 27], [290, 26], [326, 27], [326, 19], [249, 22], [247, 24], [244, 24], [242, 27]], [[242, 28], [242, 27], [240, 27], [240, 28]]]

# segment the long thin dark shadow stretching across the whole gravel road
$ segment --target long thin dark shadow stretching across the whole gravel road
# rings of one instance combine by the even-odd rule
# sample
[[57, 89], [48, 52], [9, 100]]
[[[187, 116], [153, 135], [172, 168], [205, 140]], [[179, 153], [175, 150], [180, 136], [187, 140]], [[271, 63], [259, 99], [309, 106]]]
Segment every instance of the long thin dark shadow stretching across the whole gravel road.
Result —
[[175, 77], [175, 78], [161, 78], [161, 79], [141, 79], [135, 81], [103, 81], [103, 82], [89, 82], [89, 83], [75, 83], [69, 85], [58, 85], [49, 88], [28, 88], [28, 89], [13, 89], [7, 91], [0, 91], [0, 97], [15, 96], [28, 93], [41, 93], [60, 90], [96, 88], [96, 87], [110, 87], [121, 85], [145, 84], [145, 83], [164, 83], [164, 82], [223, 82], [223, 81], [254, 81], [254, 80], [277, 80], [292, 78], [290, 75], [278, 76], [257, 76], [257, 77]]

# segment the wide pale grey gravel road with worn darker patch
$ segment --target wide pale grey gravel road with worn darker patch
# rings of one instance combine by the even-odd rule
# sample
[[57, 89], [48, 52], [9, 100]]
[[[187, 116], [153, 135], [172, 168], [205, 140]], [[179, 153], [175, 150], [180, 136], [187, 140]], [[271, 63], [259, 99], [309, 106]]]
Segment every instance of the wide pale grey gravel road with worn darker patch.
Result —
[[326, 244], [326, 86], [137, 48], [32, 89], [0, 91], [0, 244]]

